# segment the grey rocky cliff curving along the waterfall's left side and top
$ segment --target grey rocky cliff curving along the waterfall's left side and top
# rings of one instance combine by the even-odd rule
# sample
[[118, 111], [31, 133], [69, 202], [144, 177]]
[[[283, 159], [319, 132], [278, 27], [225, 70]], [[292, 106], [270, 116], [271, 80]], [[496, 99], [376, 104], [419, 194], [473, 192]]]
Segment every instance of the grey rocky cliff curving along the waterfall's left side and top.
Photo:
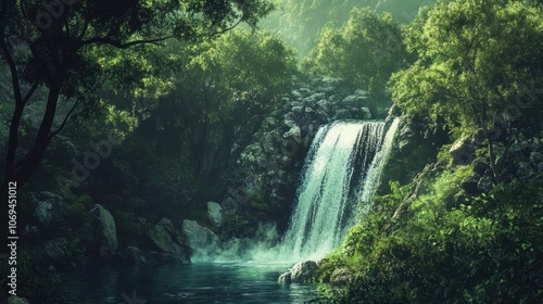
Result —
[[233, 143], [231, 177], [220, 203], [225, 223], [233, 219], [238, 228], [244, 223], [255, 228], [258, 221], [269, 220], [283, 230], [305, 154], [319, 127], [337, 119], [372, 118], [371, 103], [365, 91], [350, 90], [336, 78], [319, 79], [283, 96], [261, 119], [249, 143]]

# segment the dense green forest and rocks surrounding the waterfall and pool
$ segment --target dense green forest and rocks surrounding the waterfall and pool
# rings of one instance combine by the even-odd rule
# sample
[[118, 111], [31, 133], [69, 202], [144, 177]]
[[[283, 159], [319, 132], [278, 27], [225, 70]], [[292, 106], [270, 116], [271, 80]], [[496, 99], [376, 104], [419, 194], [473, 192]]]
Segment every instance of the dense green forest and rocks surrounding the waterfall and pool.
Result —
[[543, 1], [0, 0], [0, 38], [1, 303], [279, 242], [317, 129], [394, 117], [313, 301], [543, 302]]

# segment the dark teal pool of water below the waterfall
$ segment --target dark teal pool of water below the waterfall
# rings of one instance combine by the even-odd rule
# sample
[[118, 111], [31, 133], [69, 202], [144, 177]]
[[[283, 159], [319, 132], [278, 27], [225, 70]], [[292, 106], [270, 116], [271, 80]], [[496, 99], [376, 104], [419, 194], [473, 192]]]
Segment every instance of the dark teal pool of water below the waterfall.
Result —
[[87, 269], [78, 284], [88, 303], [304, 303], [315, 284], [277, 283], [291, 263], [197, 263]]

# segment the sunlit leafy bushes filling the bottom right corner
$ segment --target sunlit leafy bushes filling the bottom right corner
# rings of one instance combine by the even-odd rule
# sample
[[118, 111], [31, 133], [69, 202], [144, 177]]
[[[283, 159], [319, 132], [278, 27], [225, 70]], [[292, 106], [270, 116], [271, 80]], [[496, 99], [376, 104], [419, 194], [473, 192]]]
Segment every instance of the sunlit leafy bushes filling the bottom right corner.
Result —
[[[350, 267], [356, 278], [321, 301], [541, 302], [543, 180], [501, 185], [451, 208], [443, 202], [467, 172], [444, 172], [400, 218], [390, 215], [405, 200], [405, 188], [378, 198], [390, 205], [371, 211], [325, 262], [328, 274]], [[401, 225], [392, 228], [394, 223]]]

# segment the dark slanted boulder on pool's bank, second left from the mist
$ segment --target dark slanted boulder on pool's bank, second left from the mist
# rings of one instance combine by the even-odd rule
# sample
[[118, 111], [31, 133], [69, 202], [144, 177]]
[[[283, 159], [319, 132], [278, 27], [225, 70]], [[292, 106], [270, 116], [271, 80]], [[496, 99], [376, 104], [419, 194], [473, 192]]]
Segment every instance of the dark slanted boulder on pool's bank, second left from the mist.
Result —
[[147, 235], [163, 253], [169, 253], [184, 262], [190, 263], [190, 250], [184, 245], [184, 239], [174, 228], [172, 220], [167, 218], [161, 219], [147, 231]]

